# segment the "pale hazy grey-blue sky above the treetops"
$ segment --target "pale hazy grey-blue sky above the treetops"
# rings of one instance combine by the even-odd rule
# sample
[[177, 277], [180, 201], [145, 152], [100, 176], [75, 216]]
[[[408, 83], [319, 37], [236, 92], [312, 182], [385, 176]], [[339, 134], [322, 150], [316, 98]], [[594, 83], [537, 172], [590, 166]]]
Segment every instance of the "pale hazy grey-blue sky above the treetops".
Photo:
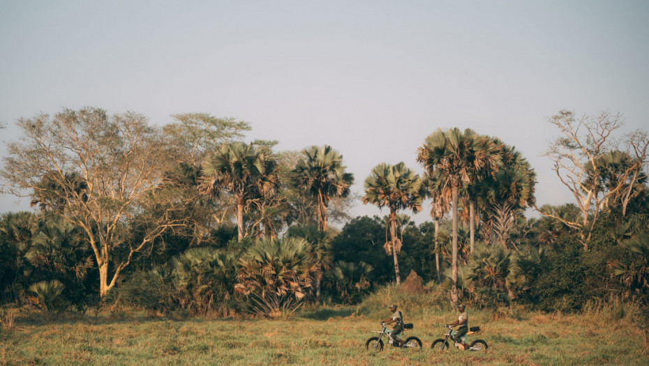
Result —
[[[362, 195], [375, 165], [421, 173], [426, 136], [472, 128], [528, 159], [539, 206], [562, 204], [574, 199], [543, 156], [559, 134], [548, 119], [610, 110], [647, 130], [647, 19], [649, 1], [624, 0], [1, 0], [0, 158], [17, 119], [40, 112], [155, 125], [204, 112], [278, 151], [333, 146]], [[28, 203], [0, 195], [0, 213]]]

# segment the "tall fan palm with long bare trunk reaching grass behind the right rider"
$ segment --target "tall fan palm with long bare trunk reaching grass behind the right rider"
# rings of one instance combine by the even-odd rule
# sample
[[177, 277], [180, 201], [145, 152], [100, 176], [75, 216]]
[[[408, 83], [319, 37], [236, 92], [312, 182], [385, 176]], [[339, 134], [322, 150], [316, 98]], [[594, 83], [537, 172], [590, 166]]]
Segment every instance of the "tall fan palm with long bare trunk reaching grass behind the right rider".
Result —
[[438, 129], [426, 137], [424, 146], [417, 150], [417, 162], [422, 164], [428, 174], [438, 169], [445, 177], [452, 193], [453, 208], [453, 257], [451, 302], [456, 307], [457, 289], [457, 230], [458, 230], [458, 190], [472, 183], [472, 171], [495, 170], [500, 157], [495, 154], [495, 146], [488, 137], [477, 135], [473, 130], [461, 132], [458, 128], [442, 131]]

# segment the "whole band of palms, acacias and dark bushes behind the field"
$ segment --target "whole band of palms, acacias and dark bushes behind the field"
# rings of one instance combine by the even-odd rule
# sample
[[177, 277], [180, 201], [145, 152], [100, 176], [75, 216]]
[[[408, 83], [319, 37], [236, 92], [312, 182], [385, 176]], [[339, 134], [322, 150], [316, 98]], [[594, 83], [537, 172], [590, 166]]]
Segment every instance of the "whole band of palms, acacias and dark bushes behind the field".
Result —
[[[355, 197], [331, 146], [277, 152], [243, 142], [243, 121], [173, 118], [157, 128], [84, 108], [18, 121], [2, 176], [39, 210], [0, 220], [1, 303], [82, 310], [112, 298], [274, 317], [304, 301], [355, 303], [408, 270], [453, 306], [648, 303], [649, 139], [617, 136], [619, 114], [551, 117], [562, 137], [547, 155], [575, 203], [541, 207], [521, 153], [470, 129], [432, 132], [413, 146], [424, 174], [382, 162]], [[387, 215], [350, 218], [358, 198]], [[425, 201], [432, 220], [417, 227], [403, 211]]]

